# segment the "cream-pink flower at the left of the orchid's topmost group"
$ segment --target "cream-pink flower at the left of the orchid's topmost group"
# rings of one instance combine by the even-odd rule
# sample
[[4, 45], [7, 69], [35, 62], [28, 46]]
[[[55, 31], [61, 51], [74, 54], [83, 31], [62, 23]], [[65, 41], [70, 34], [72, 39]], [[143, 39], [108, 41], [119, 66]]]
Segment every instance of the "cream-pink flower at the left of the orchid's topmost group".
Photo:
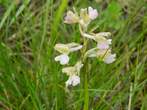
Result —
[[67, 23], [67, 24], [78, 23], [78, 21], [79, 21], [78, 15], [76, 15], [72, 11], [68, 11], [64, 18], [64, 23]]

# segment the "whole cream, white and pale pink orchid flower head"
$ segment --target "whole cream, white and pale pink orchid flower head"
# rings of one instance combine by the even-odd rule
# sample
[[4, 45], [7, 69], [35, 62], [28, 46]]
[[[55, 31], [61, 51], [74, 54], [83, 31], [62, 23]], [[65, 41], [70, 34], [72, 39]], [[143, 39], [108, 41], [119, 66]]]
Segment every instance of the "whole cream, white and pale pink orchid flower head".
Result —
[[[111, 53], [111, 42], [110, 32], [99, 32], [99, 33], [88, 33], [87, 28], [92, 20], [95, 20], [98, 16], [96, 9], [88, 7], [80, 10], [78, 14], [75, 10], [68, 11], [64, 23], [66, 24], [79, 24], [79, 31], [83, 39], [90, 39], [96, 42], [96, 47], [84, 51], [84, 58], [96, 57], [99, 60], [103, 61], [106, 64], [110, 64], [115, 61], [116, 54]], [[61, 53], [55, 57], [55, 61], [59, 61], [61, 65], [66, 65], [69, 63], [69, 54], [84, 48], [83, 45], [72, 42], [67, 44], [56, 44], [55, 50]], [[81, 55], [82, 56], [82, 55]], [[74, 66], [65, 67], [62, 69], [63, 73], [66, 73], [69, 76], [69, 79], [66, 81], [66, 87], [76, 86], [80, 83], [80, 69], [83, 67], [83, 59], [80, 59]]]

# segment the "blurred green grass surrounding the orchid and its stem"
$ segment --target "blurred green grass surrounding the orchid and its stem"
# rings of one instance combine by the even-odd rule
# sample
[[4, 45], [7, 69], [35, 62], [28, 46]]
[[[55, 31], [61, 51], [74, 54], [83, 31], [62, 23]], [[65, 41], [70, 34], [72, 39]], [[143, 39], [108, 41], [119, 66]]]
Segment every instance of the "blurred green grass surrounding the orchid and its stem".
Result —
[[89, 110], [147, 110], [146, 0], [0, 0], [0, 110], [83, 110], [83, 74], [67, 92], [53, 47], [81, 43], [63, 18], [88, 6], [99, 12], [89, 31], [111, 32], [117, 54], [111, 65], [90, 61]]

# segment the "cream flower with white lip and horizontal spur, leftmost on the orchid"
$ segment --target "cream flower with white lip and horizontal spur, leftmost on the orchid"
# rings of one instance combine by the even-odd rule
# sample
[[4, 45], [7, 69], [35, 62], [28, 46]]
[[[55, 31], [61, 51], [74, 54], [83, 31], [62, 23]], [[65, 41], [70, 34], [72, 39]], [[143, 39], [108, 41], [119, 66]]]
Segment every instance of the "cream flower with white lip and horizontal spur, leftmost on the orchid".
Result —
[[61, 65], [68, 64], [69, 56], [68, 54], [77, 50], [80, 50], [83, 46], [78, 43], [68, 43], [68, 44], [56, 44], [55, 50], [61, 53], [61, 55], [55, 57], [55, 61], [59, 61]]

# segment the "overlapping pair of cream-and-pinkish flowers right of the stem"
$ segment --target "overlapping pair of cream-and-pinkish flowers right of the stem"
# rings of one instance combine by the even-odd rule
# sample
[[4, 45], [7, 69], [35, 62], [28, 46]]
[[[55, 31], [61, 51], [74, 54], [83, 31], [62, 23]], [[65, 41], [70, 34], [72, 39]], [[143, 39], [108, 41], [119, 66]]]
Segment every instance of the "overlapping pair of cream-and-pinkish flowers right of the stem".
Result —
[[93, 35], [83, 33], [83, 36], [93, 39], [97, 43], [95, 48], [86, 52], [86, 57], [98, 57], [106, 64], [110, 64], [115, 61], [116, 54], [112, 54], [110, 48], [112, 39], [108, 39], [108, 37], [111, 36], [110, 32], [100, 32]]

